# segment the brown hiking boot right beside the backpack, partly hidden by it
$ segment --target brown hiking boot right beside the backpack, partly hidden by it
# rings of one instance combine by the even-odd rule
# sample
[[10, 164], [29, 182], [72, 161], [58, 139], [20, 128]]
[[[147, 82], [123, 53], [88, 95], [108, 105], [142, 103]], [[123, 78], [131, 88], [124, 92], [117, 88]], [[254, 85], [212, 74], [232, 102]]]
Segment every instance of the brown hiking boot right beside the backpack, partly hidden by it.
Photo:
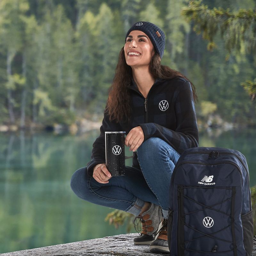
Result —
[[150, 244], [150, 252], [154, 253], [169, 253], [168, 240], [167, 240], [167, 221], [163, 219], [162, 228], [159, 230], [159, 235], [156, 240]]

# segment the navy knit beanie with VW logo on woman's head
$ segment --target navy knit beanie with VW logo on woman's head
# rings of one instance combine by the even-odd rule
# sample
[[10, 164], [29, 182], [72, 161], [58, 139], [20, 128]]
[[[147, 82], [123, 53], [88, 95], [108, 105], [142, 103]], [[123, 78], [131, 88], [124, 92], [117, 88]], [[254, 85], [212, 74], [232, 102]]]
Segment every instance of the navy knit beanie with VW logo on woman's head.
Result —
[[155, 24], [150, 23], [148, 21], [136, 22], [128, 30], [125, 37], [125, 42], [126, 42], [127, 36], [129, 36], [132, 30], [140, 30], [144, 32], [150, 38], [150, 41], [152, 42], [152, 44], [156, 48], [156, 51], [159, 53], [162, 59], [162, 56], [164, 55], [164, 47], [165, 47], [165, 35], [163, 30], [161, 30]]

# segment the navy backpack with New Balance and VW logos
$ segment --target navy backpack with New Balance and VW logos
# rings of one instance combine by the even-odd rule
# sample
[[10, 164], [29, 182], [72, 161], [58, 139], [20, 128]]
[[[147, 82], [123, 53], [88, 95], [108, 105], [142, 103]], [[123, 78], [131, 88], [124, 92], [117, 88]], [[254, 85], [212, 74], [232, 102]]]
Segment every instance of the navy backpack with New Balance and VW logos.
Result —
[[172, 173], [168, 246], [171, 256], [250, 256], [251, 190], [246, 159], [237, 150], [185, 150]]

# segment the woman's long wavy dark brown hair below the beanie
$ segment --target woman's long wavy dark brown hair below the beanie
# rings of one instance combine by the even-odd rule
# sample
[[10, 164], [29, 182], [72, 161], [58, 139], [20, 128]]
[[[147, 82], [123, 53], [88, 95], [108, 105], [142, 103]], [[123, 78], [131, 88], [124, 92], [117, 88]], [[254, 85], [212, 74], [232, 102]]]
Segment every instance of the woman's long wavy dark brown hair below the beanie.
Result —
[[[188, 78], [183, 76], [180, 72], [169, 68], [168, 66], [161, 65], [160, 55], [155, 49], [152, 51], [154, 51], [155, 54], [152, 56], [149, 63], [149, 72], [154, 76], [155, 79], [157, 77], [162, 79], [183, 77], [188, 80]], [[119, 53], [113, 83], [108, 89], [108, 100], [105, 111], [108, 113], [110, 121], [115, 120], [116, 122], [120, 122], [127, 119], [128, 122], [130, 121], [131, 107], [128, 86], [131, 84], [131, 82], [132, 68], [126, 64], [123, 47]], [[192, 86], [194, 101], [197, 101], [196, 88], [193, 83], [190, 82], [190, 84]]]

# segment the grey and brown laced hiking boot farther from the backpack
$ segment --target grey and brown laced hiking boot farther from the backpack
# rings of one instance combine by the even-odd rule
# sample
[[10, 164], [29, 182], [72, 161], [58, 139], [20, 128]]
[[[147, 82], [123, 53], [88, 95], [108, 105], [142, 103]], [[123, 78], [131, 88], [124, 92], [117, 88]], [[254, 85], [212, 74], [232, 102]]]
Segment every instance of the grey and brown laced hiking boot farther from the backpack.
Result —
[[140, 227], [140, 222], [142, 223], [142, 231], [140, 233], [138, 232], [140, 236], [133, 239], [134, 244], [150, 245], [156, 239], [155, 237], [161, 225], [162, 218], [161, 207], [150, 203], [148, 210], [135, 217], [133, 221], [134, 228], [137, 232], [141, 229], [137, 230], [136, 226], [138, 228]]

